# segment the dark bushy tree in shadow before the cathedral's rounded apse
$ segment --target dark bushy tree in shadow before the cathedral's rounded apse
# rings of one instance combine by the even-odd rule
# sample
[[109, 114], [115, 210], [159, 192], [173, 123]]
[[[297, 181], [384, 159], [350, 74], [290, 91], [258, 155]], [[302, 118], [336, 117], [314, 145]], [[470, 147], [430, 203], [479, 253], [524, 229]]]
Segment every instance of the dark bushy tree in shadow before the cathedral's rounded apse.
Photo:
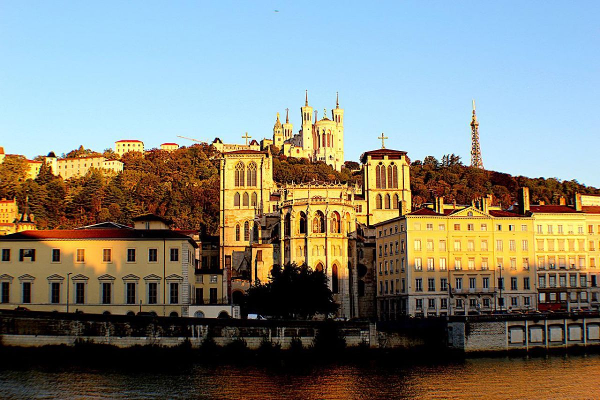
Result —
[[316, 314], [334, 314], [338, 305], [322, 271], [306, 264], [274, 266], [269, 282], [251, 287], [245, 304], [250, 312], [277, 318], [308, 319]]

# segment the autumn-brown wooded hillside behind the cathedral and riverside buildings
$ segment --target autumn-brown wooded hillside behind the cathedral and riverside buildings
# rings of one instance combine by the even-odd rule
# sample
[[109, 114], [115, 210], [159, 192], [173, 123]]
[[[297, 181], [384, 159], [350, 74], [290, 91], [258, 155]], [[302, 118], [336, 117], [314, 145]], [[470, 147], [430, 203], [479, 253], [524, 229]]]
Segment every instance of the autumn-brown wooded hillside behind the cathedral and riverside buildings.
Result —
[[[362, 184], [358, 164], [349, 161], [341, 172], [325, 163], [310, 163], [305, 158], [278, 154], [273, 148], [273, 174], [277, 182], [349, 182]], [[80, 146], [65, 157], [95, 155]], [[118, 158], [110, 149], [104, 157]], [[41, 157], [40, 157], [41, 158]], [[130, 152], [121, 157], [124, 170], [118, 174], [91, 169], [80, 178], [63, 181], [44, 164], [36, 179], [26, 179], [24, 157], [7, 156], [0, 164], [0, 198], [17, 198], [24, 209], [35, 215], [38, 228], [73, 228], [102, 221], [131, 224], [133, 216], [152, 212], [173, 221], [174, 228], [199, 229], [208, 233], [218, 228], [218, 152], [208, 145], [183, 147], [173, 152], [153, 149], [142, 155]], [[559, 196], [580, 193], [600, 194], [577, 181], [557, 178], [525, 178], [463, 166], [460, 157], [444, 155], [417, 160], [410, 167], [413, 207], [431, 201], [433, 194], [446, 202], [469, 204], [485, 194], [493, 194], [496, 203], [508, 207], [515, 201], [519, 187], [529, 187], [532, 201], [556, 203]]]

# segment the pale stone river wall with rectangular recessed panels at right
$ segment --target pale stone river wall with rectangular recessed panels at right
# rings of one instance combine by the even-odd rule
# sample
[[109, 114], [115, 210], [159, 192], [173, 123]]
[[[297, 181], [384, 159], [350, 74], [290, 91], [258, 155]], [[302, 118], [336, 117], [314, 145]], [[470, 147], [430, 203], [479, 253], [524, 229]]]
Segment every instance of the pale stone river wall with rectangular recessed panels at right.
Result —
[[450, 320], [448, 345], [467, 353], [600, 345], [600, 315], [590, 312]]

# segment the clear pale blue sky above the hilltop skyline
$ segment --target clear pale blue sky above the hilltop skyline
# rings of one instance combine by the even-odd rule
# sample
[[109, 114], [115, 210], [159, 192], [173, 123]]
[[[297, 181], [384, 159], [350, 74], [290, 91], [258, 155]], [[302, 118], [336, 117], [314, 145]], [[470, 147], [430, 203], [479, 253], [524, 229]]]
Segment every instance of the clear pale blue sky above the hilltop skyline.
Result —
[[[279, 12], [274, 12], [279, 10]], [[269, 137], [304, 90], [386, 147], [600, 187], [600, 2], [0, 2], [0, 146]]]

